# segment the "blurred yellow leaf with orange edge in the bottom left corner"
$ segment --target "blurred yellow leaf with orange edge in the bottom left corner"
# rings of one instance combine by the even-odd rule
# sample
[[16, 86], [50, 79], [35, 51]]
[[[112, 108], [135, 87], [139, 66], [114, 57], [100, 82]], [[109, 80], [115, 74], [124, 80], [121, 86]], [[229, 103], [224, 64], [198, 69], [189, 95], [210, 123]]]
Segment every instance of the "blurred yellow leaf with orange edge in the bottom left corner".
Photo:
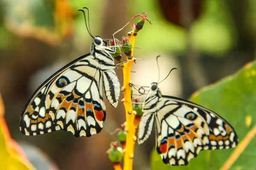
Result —
[[0, 95], [0, 169], [1, 170], [32, 170], [21, 147], [10, 137], [4, 119], [3, 99]]

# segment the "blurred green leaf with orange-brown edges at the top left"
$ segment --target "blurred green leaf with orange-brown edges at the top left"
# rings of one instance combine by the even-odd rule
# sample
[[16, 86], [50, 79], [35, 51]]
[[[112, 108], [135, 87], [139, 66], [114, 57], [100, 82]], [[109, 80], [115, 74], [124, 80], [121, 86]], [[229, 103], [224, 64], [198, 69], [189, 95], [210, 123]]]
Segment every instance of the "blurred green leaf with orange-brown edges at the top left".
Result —
[[4, 20], [15, 34], [57, 45], [72, 34], [74, 14], [67, 0], [11, 0]]

